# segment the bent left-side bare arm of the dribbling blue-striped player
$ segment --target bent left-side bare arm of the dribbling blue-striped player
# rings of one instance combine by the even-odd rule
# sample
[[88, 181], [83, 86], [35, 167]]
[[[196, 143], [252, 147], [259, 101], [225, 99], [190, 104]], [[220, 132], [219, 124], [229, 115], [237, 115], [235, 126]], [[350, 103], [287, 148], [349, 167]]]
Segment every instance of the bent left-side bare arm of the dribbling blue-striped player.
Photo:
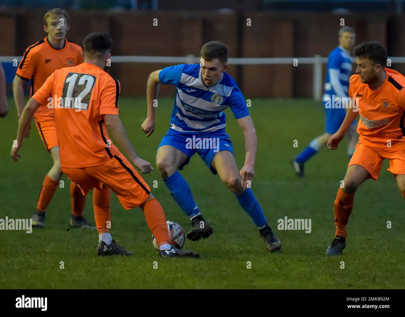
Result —
[[147, 98], [147, 106], [148, 106], [148, 113], [146, 116], [145, 121], [143, 121], [141, 127], [143, 132], [145, 132], [146, 137], [150, 136], [153, 131], [155, 130], [155, 100], [158, 100], [159, 94], [159, 73], [160, 70], [155, 70], [151, 72], [148, 77], [147, 88], [146, 88], [146, 98]]

